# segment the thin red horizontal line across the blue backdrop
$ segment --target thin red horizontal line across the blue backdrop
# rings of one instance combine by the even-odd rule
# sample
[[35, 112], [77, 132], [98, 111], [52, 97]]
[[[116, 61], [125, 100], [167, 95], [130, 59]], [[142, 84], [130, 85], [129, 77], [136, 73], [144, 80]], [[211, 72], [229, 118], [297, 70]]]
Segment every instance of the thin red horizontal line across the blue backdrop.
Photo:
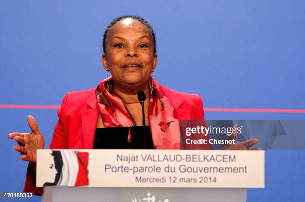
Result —
[[[11, 109], [58, 109], [57, 105], [0, 105]], [[239, 109], [239, 108], [204, 108], [207, 112], [269, 112], [269, 113], [305, 113], [305, 109]]]

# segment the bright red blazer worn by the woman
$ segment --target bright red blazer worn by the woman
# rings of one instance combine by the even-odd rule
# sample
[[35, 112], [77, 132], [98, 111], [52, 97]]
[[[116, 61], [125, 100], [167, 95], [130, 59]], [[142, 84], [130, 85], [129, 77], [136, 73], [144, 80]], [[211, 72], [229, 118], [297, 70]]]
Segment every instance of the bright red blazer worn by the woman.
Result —
[[[199, 95], [181, 93], [160, 85], [166, 97], [178, 113], [179, 120], [204, 120], [202, 99]], [[57, 114], [50, 149], [92, 149], [99, 115], [95, 88], [67, 93]], [[208, 137], [207, 137], [208, 138]], [[210, 144], [204, 148], [212, 149]], [[24, 192], [41, 195], [27, 169]]]

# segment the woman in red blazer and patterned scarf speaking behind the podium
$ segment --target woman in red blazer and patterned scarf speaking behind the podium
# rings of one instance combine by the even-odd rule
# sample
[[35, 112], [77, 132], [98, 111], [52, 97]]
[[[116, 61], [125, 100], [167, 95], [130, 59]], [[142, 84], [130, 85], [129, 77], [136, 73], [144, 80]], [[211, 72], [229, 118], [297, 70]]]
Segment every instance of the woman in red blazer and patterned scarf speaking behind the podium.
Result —
[[[96, 88], [65, 95], [50, 149], [179, 149], [179, 120], [203, 120], [202, 100], [153, 78], [158, 57], [152, 26], [137, 16], [118, 17], [105, 30], [103, 50], [104, 69], [112, 76]], [[8, 137], [18, 142], [14, 149], [20, 158], [30, 162], [24, 191], [41, 195], [42, 188], [35, 186], [36, 150], [44, 148], [44, 140], [35, 119], [28, 116], [27, 121], [31, 133]], [[252, 139], [224, 148], [248, 149], [256, 143]]]

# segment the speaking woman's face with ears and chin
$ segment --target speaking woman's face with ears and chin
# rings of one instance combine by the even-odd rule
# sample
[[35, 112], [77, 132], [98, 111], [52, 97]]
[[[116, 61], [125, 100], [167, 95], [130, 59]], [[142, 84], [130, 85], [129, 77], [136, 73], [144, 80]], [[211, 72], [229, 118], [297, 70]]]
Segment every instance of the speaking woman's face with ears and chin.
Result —
[[148, 79], [156, 67], [153, 39], [148, 28], [138, 21], [125, 19], [108, 32], [105, 69], [113, 77], [114, 86], [127, 89], [147, 88]]

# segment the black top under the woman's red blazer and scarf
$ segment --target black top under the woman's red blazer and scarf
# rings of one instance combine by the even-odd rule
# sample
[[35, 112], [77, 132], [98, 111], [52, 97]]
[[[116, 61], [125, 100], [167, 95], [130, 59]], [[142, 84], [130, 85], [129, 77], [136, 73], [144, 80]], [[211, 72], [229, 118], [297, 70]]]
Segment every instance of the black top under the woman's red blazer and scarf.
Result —
[[[145, 128], [146, 146], [144, 146]], [[127, 142], [128, 130], [131, 143]], [[154, 149], [150, 126], [109, 127], [95, 129], [93, 149]]]

